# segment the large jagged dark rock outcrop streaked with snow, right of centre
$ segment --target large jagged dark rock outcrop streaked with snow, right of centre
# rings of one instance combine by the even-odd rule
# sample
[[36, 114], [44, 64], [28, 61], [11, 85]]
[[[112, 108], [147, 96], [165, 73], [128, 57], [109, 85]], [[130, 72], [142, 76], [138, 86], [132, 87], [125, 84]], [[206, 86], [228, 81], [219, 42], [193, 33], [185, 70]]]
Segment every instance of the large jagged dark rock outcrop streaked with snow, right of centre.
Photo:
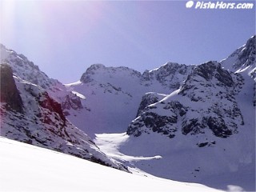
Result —
[[234, 98], [242, 84], [241, 75], [222, 69], [218, 62], [197, 66], [176, 94], [142, 105], [144, 110], [130, 123], [127, 134], [138, 137], [153, 131], [174, 138], [176, 131], [205, 134], [210, 129], [215, 136], [227, 138], [244, 123]]

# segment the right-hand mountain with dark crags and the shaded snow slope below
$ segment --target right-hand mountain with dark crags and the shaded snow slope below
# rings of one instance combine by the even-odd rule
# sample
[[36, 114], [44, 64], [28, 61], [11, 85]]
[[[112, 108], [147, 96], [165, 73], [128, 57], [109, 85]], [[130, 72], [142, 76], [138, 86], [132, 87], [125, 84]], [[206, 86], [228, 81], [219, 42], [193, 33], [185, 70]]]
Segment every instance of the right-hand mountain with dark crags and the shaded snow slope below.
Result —
[[221, 63], [196, 66], [165, 98], [142, 100], [120, 151], [161, 155], [134, 162], [159, 177], [255, 190], [255, 64], [254, 36]]

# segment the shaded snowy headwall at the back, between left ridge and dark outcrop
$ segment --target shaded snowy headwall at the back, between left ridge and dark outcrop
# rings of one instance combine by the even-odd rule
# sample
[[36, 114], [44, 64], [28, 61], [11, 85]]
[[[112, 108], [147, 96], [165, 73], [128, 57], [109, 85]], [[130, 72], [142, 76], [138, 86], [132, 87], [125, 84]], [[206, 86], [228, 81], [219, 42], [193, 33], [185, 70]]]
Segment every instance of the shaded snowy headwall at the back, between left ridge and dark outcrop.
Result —
[[99, 133], [122, 133], [136, 117], [144, 94], [170, 94], [182, 85], [194, 66], [166, 63], [143, 74], [127, 67], [90, 66], [80, 82], [66, 85], [67, 90], [85, 95], [85, 106], [73, 111], [71, 122], [94, 137]]

